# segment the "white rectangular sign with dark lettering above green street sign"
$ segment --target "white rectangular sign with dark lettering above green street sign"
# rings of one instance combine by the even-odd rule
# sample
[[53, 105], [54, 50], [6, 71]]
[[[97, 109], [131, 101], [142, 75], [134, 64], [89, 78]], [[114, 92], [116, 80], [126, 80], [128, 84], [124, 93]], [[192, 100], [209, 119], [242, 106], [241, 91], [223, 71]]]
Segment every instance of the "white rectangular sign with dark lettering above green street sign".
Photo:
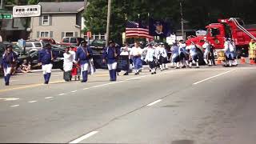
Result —
[[14, 6], [13, 17], [38, 17], [41, 15], [40, 5]]

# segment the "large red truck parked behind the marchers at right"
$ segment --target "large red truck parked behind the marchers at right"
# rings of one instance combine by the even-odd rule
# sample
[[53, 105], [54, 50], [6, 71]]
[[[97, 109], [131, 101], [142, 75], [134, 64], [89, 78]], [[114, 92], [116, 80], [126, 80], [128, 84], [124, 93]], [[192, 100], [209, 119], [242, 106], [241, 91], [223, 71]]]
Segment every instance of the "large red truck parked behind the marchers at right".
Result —
[[186, 43], [194, 42], [203, 45], [206, 38], [215, 50], [224, 48], [224, 38], [232, 38], [237, 47], [237, 54], [248, 54], [248, 44], [250, 39], [256, 40], [256, 25], [245, 25], [240, 18], [218, 19], [219, 23], [211, 23], [206, 26], [206, 35], [189, 38]]

